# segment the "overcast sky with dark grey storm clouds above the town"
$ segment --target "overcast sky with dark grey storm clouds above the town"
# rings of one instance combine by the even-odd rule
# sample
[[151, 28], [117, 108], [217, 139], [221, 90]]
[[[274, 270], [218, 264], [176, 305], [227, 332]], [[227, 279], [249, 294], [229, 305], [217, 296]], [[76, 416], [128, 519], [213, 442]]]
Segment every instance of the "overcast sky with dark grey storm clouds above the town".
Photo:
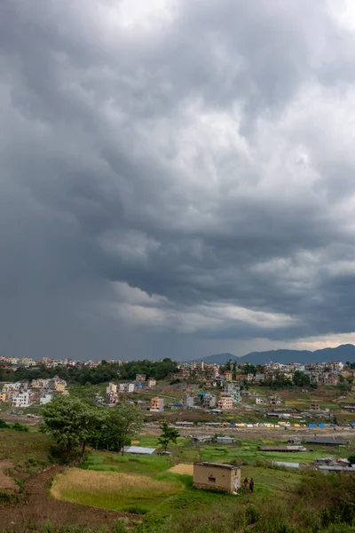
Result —
[[350, 0], [1, 0], [0, 353], [355, 341]]

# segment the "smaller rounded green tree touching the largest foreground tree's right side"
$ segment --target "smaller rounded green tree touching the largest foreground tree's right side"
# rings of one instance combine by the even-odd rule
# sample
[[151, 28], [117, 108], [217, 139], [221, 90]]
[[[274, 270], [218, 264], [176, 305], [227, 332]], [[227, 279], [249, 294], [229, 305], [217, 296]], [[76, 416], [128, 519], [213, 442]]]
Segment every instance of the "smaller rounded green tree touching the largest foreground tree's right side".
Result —
[[108, 411], [106, 430], [108, 434], [115, 436], [117, 447], [121, 450], [122, 455], [124, 446], [129, 444], [131, 437], [138, 434], [142, 426], [141, 410], [131, 403], [119, 403]]

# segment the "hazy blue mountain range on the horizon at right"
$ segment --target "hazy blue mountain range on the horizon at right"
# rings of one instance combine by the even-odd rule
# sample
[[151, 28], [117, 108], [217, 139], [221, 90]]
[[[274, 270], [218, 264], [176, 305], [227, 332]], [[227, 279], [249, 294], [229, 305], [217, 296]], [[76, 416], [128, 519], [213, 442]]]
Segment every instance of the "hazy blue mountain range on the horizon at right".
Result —
[[233, 354], [214, 354], [203, 357], [199, 361], [216, 362], [225, 364], [228, 361], [250, 362], [251, 364], [264, 364], [265, 362], [355, 362], [355, 346], [351, 344], [337, 346], [336, 348], [323, 348], [311, 352], [309, 350], [269, 350], [267, 352], [251, 352], [250, 354], [237, 357]]

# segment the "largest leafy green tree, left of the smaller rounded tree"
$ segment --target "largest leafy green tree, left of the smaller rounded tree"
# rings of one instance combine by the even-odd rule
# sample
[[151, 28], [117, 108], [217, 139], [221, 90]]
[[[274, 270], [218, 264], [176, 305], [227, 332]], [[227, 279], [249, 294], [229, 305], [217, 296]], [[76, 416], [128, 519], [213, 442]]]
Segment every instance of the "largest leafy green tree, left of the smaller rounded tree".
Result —
[[98, 408], [71, 396], [59, 396], [43, 408], [42, 414], [43, 432], [65, 450], [67, 459], [78, 446], [85, 452], [100, 417]]

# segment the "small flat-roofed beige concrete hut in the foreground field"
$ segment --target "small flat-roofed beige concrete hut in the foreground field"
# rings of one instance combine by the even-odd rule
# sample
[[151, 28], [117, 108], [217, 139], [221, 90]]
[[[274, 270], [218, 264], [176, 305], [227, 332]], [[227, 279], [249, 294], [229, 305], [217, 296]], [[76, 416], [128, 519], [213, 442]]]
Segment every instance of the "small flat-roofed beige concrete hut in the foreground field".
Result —
[[241, 466], [220, 463], [194, 463], [193, 486], [236, 492], [241, 487]]

